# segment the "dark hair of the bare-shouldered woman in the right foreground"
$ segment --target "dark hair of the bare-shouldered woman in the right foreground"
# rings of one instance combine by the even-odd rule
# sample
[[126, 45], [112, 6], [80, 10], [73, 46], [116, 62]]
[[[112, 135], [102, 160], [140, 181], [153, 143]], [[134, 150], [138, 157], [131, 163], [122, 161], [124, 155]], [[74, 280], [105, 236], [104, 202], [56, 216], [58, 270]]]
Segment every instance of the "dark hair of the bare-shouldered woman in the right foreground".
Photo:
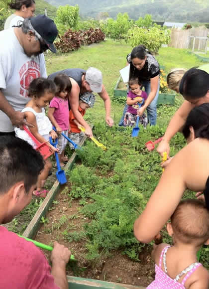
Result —
[[209, 140], [209, 103], [204, 103], [191, 110], [182, 130], [185, 139], [190, 136], [190, 127], [193, 127], [195, 131], [195, 138]]

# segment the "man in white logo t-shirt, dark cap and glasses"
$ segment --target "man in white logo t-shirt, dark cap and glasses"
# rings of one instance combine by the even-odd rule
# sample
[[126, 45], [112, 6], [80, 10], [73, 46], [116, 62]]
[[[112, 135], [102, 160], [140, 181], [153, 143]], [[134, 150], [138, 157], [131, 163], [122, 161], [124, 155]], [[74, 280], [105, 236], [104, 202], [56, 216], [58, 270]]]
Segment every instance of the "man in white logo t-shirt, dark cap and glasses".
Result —
[[0, 31], [0, 135], [13, 134], [13, 126], [27, 125], [21, 113], [30, 100], [27, 89], [34, 78], [47, 77], [43, 52], [56, 52], [57, 34], [54, 21], [45, 15]]

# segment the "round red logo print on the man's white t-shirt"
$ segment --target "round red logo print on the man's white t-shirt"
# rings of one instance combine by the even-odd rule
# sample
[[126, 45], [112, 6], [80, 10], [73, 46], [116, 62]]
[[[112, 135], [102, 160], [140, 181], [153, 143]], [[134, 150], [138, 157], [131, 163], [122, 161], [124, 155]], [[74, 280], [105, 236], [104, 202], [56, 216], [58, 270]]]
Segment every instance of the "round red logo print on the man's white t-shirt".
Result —
[[27, 90], [31, 81], [35, 78], [40, 77], [40, 66], [34, 60], [28, 61], [22, 65], [19, 70], [20, 78], [20, 95], [27, 98]]

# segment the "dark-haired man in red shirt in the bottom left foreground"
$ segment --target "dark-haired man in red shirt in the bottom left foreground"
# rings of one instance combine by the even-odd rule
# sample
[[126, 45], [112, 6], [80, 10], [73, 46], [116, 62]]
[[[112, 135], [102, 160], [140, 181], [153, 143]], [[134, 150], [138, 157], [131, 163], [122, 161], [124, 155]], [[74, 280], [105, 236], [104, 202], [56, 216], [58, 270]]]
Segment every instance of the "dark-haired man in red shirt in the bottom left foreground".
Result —
[[[43, 167], [42, 156], [30, 144], [0, 137], [0, 224], [10, 222], [30, 203]], [[70, 255], [55, 242], [51, 268], [33, 243], [0, 226], [0, 289], [67, 289]]]

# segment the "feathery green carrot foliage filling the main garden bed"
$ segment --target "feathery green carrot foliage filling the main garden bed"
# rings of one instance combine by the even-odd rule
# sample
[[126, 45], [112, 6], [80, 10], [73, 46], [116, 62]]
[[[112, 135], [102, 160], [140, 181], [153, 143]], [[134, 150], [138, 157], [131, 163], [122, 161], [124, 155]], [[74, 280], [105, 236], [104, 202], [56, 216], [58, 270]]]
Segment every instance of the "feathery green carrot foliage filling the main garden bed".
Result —
[[[133, 223], [144, 210], [147, 200], [162, 174], [160, 156], [148, 152], [145, 143], [163, 136], [165, 128], [140, 128], [137, 138], [131, 138], [131, 128], [108, 128], [96, 124], [95, 137], [107, 147], [96, 147], [91, 140], [78, 150], [82, 165], [69, 171], [72, 198], [85, 200], [81, 213], [91, 221], [80, 233], [87, 240], [87, 259], [94, 260], [113, 249], [120, 249], [138, 260], [143, 244], [133, 235]], [[172, 153], [184, 146], [181, 134], [171, 144]], [[176, 145], [174, 145], [176, 144]], [[79, 233], [66, 234], [69, 241], [79, 240]]]

